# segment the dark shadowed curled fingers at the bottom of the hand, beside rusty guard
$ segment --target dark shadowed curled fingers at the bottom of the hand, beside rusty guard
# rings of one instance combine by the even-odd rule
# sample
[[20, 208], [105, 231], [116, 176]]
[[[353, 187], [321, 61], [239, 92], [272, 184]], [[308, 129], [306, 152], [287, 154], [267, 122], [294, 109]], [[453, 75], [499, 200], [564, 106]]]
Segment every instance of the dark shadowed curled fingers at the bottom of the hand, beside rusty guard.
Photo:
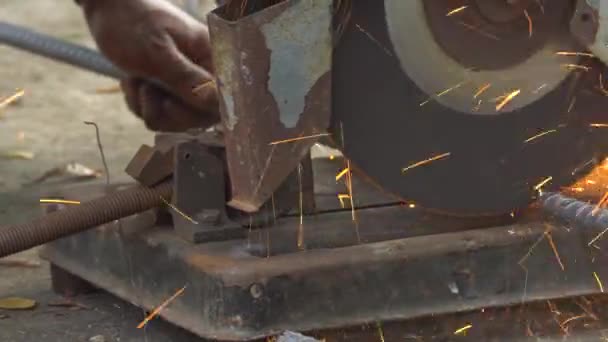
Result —
[[138, 98], [140, 117], [153, 131], [181, 132], [207, 128], [219, 121], [216, 112], [201, 112], [150, 84], [139, 87]]

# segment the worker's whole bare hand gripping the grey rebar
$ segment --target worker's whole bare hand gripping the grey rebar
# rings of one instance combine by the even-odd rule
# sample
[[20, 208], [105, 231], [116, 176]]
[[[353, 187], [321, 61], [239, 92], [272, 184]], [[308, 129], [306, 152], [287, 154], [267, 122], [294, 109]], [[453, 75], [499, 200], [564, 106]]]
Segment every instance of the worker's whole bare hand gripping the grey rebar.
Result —
[[150, 129], [181, 131], [219, 120], [206, 26], [166, 0], [81, 5], [99, 49], [130, 75], [121, 82], [127, 104]]

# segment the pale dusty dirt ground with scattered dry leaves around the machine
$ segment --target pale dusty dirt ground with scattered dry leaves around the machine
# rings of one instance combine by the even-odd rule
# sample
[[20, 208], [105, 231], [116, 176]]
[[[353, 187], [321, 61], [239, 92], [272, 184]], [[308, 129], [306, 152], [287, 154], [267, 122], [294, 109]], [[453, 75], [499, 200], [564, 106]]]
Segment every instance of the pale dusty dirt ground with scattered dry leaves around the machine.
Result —
[[[71, 0], [2, 0], [0, 20], [93, 46], [80, 11]], [[0, 158], [0, 225], [39, 215], [39, 198], [66, 184], [29, 184], [48, 170], [72, 161], [103, 169], [95, 131], [84, 121], [99, 125], [112, 181], [128, 180], [123, 168], [141, 144], [152, 142], [153, 135], [128, 113], [120, 93], [98, 93], [99, 89], [115, 85], [114, 80], [0, 46], [0, 98], [17, 89], [26, 92], [16, 105], [0, 112], [0, 155], [3, 156]], [[33, 157], [9, 158], [24, 153]], [[54, 305], [63, 299], [50, 290], [48, 265], [37, 257], [36, 250], [4, 262], [6, 260], [25, 264], [17, 267], [0, 264], [0, 298], [20, 296], [34, 299], [38, 304], [29, 311], [0, 310], [0, 342], [201, 341], [161, 320], [153, 321], [146, 329], [136, 329], [144, 315], [142, 310], [104, 293], [78, 298], [79, 306], [75, 307]], [[456, 319], [458, 324], [467, 320], [474, 321], [471, 317]], [[437, 321], [409, 326], [413, 332], [427, 327], [431, 334], [433, 329], [438, 329]], [[384, 341], [384, 336], [373, 331], [369, 340]], [[448, 336], [452, 331], [449, 330]], [[608, 336], [606, 331], [596, 328], [567, 340], [600, 341], [604, 334]], [[386, 341], [419, 340], [412, 336], [415, 335], [401, 334], [389, 339], [387, 334]]]

